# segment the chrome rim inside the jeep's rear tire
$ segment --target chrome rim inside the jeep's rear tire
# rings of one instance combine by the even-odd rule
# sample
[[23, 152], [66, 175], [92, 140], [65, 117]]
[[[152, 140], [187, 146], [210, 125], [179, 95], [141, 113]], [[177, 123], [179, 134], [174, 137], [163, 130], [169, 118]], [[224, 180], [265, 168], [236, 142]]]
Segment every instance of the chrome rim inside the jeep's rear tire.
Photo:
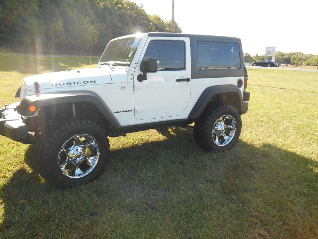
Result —
[[213, 125], [212, 137], [218, 146], [225, 146], [230, 143], [235, 135], [237, 124], [230, 115], [223, 115]]

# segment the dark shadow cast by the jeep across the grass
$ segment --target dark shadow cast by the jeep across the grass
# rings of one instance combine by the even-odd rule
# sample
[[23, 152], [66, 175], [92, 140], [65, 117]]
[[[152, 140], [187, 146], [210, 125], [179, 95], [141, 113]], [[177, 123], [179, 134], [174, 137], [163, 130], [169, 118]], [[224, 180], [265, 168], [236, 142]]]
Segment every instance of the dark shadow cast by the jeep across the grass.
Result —
[[[317, 162], [242, 141], [228, 152], [207, 153], [192, 130], [165, 135], [113, 149], [101, 177], [77, 188], [55, 190], [35, 171], [18, 170], [0, 191], [4, 237], [318, 236]], [[25, 154], [32, 166], [34, 150]]]

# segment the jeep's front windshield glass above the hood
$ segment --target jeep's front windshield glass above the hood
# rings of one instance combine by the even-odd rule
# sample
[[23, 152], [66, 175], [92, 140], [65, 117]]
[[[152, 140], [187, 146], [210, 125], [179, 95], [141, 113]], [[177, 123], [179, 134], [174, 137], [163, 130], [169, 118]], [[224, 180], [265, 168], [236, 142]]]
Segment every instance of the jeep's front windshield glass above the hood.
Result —
[[134, 58], [140, 38], [129, 37], [109, 42], [99, 60], [100, 65], [130, 66]]

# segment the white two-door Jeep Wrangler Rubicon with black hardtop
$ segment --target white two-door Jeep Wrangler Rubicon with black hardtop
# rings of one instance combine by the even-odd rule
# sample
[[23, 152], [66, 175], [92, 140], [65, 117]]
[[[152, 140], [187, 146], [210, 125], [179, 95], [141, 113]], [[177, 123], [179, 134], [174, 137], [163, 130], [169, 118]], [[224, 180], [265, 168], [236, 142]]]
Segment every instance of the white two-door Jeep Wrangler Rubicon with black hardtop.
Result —
[[145, 33], [111, 40], [95, 69], [26, 77], [19, 103], [0, 111], [0, 134], [39, 146], [39, 170], [55, 186], [96, 177], [109, 137], [195, 123], [207, 151], [231, 149], [249, 93], [238, 38]]

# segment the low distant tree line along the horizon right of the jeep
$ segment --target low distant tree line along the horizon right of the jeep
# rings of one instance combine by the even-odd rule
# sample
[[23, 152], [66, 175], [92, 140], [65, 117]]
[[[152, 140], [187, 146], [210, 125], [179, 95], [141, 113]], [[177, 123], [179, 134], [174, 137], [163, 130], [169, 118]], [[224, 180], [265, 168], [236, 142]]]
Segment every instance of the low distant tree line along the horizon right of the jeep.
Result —
[[[271, 56], [258, 55], [252, 56], [249, 53], [244, 53], [244, 62], [260, 61], [260, 60], [271, 60]], [[317, 66], [318, 55], [304, 54], [303, 52], [290, 52], [283, 53], [281, 51], [275, 52], [275, 61], [278, 64], [291, 64], [297, 66]]]

